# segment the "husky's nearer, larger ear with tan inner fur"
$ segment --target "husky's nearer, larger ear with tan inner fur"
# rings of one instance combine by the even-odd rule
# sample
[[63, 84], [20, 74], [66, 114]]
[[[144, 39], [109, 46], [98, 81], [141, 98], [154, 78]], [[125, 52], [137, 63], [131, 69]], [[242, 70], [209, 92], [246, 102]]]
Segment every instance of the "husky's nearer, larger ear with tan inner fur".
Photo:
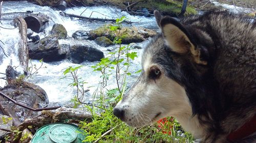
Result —
[[160, 23], [161, 31], [167, 45], [177, 53], [190, 52], [197, 64], [207, 65], [206, 61], [200, 60], [200, 49], [191, 38], [186, 28], [176, 19], [164, 16]]

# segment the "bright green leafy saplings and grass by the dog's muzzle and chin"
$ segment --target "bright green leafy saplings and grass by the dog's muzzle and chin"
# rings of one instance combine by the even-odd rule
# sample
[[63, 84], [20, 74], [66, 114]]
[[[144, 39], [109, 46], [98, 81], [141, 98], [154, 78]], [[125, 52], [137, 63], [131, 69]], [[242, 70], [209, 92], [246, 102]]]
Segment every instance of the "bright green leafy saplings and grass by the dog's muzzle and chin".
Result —
[[[73, 82], [69, 85], [77, 89], [77, 95], [72, 99], [74, 103], [78, 102], [75, 107], [84, 105], [93, 116], [92, 121], [80, 122], [80, 128], [86, 135], [83, 142], [192, 142], [193, 137], [184, 132], [177, 120], [172, 117], [167, 117], [154, 125], [131, 128], [113, 115], [113, 108], [126, 91], [126, 77], [132, 75], [129, 72], [131, 61], [137, 57], [137, 52], [131, 51], [131, 45], [122, 45], [120, 31], [125, 19], [125, 17], [118, 18], [116, 23], [110, 26], [110, 30], [117, 35], [113, 42], [118, 45], [118, 50], [110, 52], [92, 66], [95, 72], [101, 73], [98, 88], [93, 93], [92, 104], [79, 101], [84, 93], [83, 84], [86, 83], [77, 77], [77, 70], [81, 66], [69, 67], [63, 72], [65, 77], [68, 74], [72, 75]], [[141, 70], [135, 73], [139, 72]], [[108, 81], [113, 73], [117, 88], [108, 89]]]

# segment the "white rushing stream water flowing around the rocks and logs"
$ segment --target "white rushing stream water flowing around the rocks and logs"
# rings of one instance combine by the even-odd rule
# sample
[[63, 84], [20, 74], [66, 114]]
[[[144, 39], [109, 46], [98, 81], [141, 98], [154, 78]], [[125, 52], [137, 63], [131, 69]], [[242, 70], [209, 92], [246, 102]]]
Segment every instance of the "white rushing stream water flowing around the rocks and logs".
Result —
[[[40, 39], [44, 38], [45, 36], [49, 35], [49, 32], [51, 31], [51, 28], [53, 24], [59, 23], [65, 26], [68, 36], [71, 37], [72, 34], [75, 31], [83, 30], [83, 31], [91, 31], [94, 28], [105, 24], [109, 22], [102, 22], [102, 21], [86, 21], [86, 20], [79, 20], [77, 18], [67, 18], [62, 17], [58, 10], [53, 10], [50, 7], [40, 7], [37, 5], [34, 5], [29, 2], [4, 2], [3, 3], [3, 9], [2, 13], [13, 13], [13, 12], [26, 12], [26, 11], [33, 11], [34, 13], [44, 13], [47, 14], [50, 19], [47, 24], [47, 27], [45, 29], [45, 32], [41, 32], [39, 34], [35, 33], [35, 35], [39, 35]], [[84, 11], [86, 10], [86, 11]], [[84, 12], [83, 12], [84, 11]], [[98, 18], [118, 18], [121, 16], [126, 16], [129, 18], [130, 21], [134, 22], [131, 25], [134, 26], [141, 26], [146, 28], [157, 28], [154, 17], [143, 17], [143, 16], [132, 16], [129, 15], [126, 12], [121, 12], [120, 9], [113, 8], [113, 7], [106, 7], [106, 6], [97, 6], [97, 7], [81, 7], [81, 8], [69, 8], [65, 11], [69, 14], [76, 14], [80, 15], [82, 12], [82, 16], [90, 16], [91, 17], [98, 17]], [[2, 16], [2, 25], [3, 27], [7, 28], [13, 28], [12, 20], [5, 20], [9, 17], [3, 15]], [[16, 70], [20, 73], [23, 73], [23, 69], [19, 66], [18, 56], [17, 56], [17, 47], [18, 42], [20, 40], [18, 28], [14, 28], [13, 30], [6, 30], [4, 28], [0, 28], [0, 40], [5, 43], [1, 46], [5, 50], [6, 54], [8, 55], [8, 58], [4, 55], [2, 49], [0, 52], [0, 73], [5, 73], [5, 69], [8, 65], [12, 65], [17, 67]], [[87, 40], [87, 42], [90, 42], [92, 45], [95, 46], [95, 48], [100, 49], [104, 52], [104, 55], [108, 55], [107, 49], [113, 49], [116, 46], [112, 47], [101, 47], [98, 46], [94, 41]], [[144, 41], [142, 43], [136, 43], [137, 45], [143, 47], [148, 41]], [[65, 40], [59, 40], [59, 44], [68, 43], [68, 44], [77, 44], [77, 41], [74, 41], [72, 38], [68, 38]], [[82, 41], [79, 42], [79, 44], [83, 44]], [[134, 72], [138, 71], [140, 66], [140, 54], [141, 49], [134, 49], [133, 51], [138, 52], [138, 58], [135, 58], [133, 63], [130, 67], [130, 72], [132, 73], [131, 76], [127, 79], [127, 85], [130, 86], [135, 80], [138, 74], [135, 74]], [[97, 85], [100, 81], [100, 73], [94, 72], [93, 68], [91, 66], [95, 65], [97, 62], [83, 62], [81, 65], [84, 65], [81, 69], [78, 71], [78, 76], [84, 79], [86, 82], [88, 82], [85, 85], [85, 88], [89, 88], [89, 94], [88, 94], [88, 100], [90, 100], [91, 95], [93, 92], [97, 89]], [[37, 60], [32, 60], [32, 64], [36, 65], [38, 68], [40, 66], [40, 62]], [[60, 62], [52, 62], [52, 63], [44, 63], [43, 67], [41, 68], [36, 75], [33, 75], [32, 78], [29, 78], [28, 81], [35, 83], [39, 85], [42, 89], [44, 89], [49, 97], [50, 102], [59, 102], [59, 103], [67, 103], [73, 98], [75, 94], [75, 89], [72, 87], [69, 87], [69, 83], [72, 82], [71, 79], [65, 78], [61, 79], [63, 77], [63, 71], [67, 69], [69, 66], [79, 66], [79, 64], [73, 64], [69, 60], [63, 60]], [[0, 75], [0, 77], [3, 77], [4, 75]], [[5, 80], [0, 79], [0, 87], [4, 87]], [[110, 75], [110, 80], [108, 82], [108, 89], [116, 88], [116, 82], [115, 82], [115, 73], [112, 72]]]

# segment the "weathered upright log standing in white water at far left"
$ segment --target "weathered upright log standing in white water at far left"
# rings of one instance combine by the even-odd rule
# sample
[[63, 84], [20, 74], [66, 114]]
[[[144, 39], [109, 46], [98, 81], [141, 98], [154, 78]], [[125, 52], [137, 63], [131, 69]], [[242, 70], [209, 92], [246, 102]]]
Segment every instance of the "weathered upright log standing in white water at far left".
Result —
[[27, 23], [23, 17], [17, 17], [13, 20], [14, 24], [18, 26], [21, 40], [18, 48], [18, 58], [20, 65], [27, 71], [29, 65], [29, 50], [27, 47]]

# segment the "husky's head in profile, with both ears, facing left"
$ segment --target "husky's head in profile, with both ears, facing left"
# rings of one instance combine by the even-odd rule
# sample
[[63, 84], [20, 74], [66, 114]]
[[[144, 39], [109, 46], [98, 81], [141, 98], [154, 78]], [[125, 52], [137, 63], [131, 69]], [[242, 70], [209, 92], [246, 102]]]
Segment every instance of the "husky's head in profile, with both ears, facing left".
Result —
[[207, 66], [201, 35], [192, 38], [188, 27], [176, 19], [162, 17], [158, 11], [154, 14], [161, 34], [145, 47], [140, 77], [114, 108], [114, 115], [133, 127], [192, 114], [185, 84], [193, 80], [192, 73], [200, 75]]

